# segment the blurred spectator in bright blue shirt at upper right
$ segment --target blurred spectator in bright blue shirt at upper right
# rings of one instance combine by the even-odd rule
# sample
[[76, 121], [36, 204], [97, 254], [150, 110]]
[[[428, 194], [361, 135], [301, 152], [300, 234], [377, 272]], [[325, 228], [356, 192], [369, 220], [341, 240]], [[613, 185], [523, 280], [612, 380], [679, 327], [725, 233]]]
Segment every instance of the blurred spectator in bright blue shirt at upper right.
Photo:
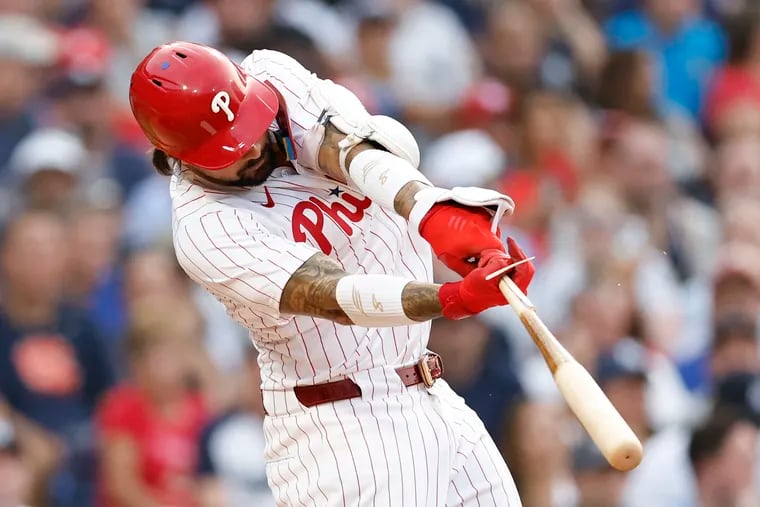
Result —
[[698, 120], [707, 85], [725, 56], [723, 32], [699, 0], [643, 0], [605, 23], [612, 49], [642, 48], [657, 71], [658, 109]]

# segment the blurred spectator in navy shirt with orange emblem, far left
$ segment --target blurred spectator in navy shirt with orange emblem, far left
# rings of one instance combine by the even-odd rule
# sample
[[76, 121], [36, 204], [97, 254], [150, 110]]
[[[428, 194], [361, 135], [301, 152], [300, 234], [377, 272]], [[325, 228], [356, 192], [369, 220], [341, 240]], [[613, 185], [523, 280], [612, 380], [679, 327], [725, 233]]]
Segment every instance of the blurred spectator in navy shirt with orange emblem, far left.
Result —
[[91, 417], [113, 373], [92, 321], [67, 304], [67, 240], [45, 212], [14, 218], [0, 249], [0, 393], [65, 445], [51, 483], [54, 505], [91, 500]]

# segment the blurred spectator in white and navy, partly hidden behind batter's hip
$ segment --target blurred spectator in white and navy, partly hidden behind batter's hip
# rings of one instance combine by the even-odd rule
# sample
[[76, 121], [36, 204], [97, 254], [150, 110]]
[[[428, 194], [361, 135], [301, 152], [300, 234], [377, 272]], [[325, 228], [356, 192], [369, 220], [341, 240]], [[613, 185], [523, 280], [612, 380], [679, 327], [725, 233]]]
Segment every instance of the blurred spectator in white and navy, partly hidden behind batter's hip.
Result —
[[214, 419], [200, 440], [201, 507], [274, 506], [264, 463], [264, 405], [256, 349], [249, 346], [237, 377], [238, 401]]

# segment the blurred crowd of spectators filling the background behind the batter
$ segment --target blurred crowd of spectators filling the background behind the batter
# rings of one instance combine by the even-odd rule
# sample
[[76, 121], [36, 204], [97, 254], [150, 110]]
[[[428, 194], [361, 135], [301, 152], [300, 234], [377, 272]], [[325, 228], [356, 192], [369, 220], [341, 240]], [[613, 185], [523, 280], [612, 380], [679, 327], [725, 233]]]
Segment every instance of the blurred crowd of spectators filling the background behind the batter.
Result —
[[0, 507], [273, 505], [256, 352], [129, 112], [176, 39], [288, 53], [514, 198], [531, 299], [645, 447], [605, 463], [508, 308], [436, 321], [526, 507], [760, 506], [757, 2], [0, 0]]

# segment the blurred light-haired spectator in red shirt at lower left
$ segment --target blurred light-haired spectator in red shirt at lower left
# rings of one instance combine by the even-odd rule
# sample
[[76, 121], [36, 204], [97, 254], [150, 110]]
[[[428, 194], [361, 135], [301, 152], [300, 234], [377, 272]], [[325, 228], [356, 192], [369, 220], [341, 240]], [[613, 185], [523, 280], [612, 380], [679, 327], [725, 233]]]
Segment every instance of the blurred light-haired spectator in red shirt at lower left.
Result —
[[128, 380], [98, 409], [104, 507], [194, 507], [197, 440], [207, 418], [195, 308], [163, 297], [133, 309]]

